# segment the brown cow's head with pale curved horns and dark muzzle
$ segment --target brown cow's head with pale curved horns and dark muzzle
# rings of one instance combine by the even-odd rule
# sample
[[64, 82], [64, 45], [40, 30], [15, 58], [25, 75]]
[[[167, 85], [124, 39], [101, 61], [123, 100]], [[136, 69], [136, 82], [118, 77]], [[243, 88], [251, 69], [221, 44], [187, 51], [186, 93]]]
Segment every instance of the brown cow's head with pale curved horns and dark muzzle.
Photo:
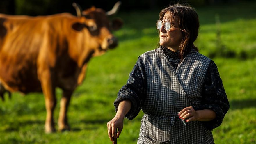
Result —
[[120, 4], [121, 2], [117, 2], [111, 11], [105, 12], [95, 7], [81, 11], [80, 6], [73, 3], [80, 21], [72, 24], [72, 28], [84, 33], [86, 40], [90, 37], [90, 41], [87, 43], [97, 51], [112, 49], [118, 45], [118, 40], [112, 35], [111, 31], [120, 29], [123, 22], [120, 19], [109, 21], [108, 17], [118, 11]]

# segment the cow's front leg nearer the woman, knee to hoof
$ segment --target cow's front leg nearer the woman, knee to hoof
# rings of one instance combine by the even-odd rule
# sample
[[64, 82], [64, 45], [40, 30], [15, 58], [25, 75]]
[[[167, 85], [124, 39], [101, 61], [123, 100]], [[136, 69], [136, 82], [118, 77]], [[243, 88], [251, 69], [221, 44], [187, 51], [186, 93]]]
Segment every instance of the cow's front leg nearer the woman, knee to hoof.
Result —
[[60, 113], [58, 119], [58, 129], [60, 131], [69, 130], [70, 127], [67, 122], [67, 109], [70, 102], [73, 90], [63, 90], [63, 96], [60, 102]]

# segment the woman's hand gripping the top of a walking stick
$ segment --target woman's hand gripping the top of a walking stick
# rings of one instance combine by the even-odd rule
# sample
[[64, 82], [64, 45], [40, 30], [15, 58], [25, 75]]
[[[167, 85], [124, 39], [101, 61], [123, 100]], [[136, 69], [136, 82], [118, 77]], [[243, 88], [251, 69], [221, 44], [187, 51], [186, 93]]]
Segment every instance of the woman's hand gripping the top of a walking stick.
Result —
[[[124, 124], [124, 117], [117, 116], [117, 115], [115, 115], [115, 117], [107, 123], [108, 134], [111, 141], [116, 140], [117, 137], [119, 138], [123, 129], [123, 124]], [[118, 129], [118, 132], [117, 132], [117, 129]]]

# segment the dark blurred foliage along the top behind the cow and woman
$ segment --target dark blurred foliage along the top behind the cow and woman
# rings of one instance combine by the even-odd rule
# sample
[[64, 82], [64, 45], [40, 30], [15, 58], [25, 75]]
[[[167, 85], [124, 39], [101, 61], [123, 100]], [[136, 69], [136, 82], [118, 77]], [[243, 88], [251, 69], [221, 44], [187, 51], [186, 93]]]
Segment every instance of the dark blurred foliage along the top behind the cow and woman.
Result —
[[[50, 15], [54, 13], [70, 12], [75, 14], [72, 3], [76, 2], [83, 9], [96, 6], [110, 10], [118, 0], [1, 0], [0, 13], [16, 15]], [[121, 11], [162, 9], [174, 3], [188, 3], [193, 7], [219, 3], [235, 3], [241, 0], [119, 0], [122, 1]], [[248, 0], [255, 1], [255, 0]]]

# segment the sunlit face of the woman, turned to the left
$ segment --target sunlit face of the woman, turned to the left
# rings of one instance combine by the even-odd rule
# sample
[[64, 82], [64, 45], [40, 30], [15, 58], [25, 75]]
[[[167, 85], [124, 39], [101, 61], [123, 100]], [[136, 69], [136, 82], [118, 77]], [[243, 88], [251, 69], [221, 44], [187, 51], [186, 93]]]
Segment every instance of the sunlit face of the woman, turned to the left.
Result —
[[[172, 17], [170, 12], [166, 12], [162, 19], [163, 22], [169, 21], [172, 22]], [[179, 29], [179, 22], [175, 19], [170, 31], [166, 31], [162, 26], [160, 29], [160, 45], [168, 47], [172, 51], [178, 51], [179, 45], [182, 40], [182, 33]]]

